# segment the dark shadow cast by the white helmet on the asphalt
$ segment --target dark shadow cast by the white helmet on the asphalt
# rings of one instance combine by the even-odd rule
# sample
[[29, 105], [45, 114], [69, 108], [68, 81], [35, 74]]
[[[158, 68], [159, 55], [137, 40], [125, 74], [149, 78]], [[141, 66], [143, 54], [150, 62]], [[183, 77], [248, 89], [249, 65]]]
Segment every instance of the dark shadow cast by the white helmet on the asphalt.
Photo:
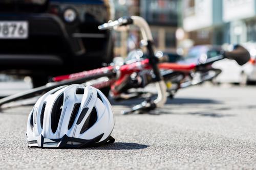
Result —
[[87, 148], [87, 150], [140, 150], [150, 147], [146, 144], [115, 142], [113, 144], [103, 145], [102, 147]]

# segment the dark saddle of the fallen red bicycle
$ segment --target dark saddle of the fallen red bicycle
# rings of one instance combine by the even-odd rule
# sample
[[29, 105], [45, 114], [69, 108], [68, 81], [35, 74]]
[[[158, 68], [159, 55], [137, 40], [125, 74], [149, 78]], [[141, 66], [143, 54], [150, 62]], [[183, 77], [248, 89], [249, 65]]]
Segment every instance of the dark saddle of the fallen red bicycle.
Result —
[[239, 65], [244, 65], [250, 60], [250, 53], [241, 45], [235, 45], [231, 52], [224, 52], [224, 56], [236, 60]]

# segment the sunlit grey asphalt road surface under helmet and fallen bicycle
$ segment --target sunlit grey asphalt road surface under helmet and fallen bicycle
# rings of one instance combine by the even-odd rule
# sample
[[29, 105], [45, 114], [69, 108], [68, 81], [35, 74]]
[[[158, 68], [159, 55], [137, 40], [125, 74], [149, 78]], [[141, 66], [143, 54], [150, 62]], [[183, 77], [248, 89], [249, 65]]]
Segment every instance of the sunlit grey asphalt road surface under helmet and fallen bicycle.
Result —
[[32, 106], [0, 113], [0, 169], [256, 169], [256, 87], [197, 86], [151, 114], [121, 115], [139, 100], [114, 103], [114, 144], [29, 149]]

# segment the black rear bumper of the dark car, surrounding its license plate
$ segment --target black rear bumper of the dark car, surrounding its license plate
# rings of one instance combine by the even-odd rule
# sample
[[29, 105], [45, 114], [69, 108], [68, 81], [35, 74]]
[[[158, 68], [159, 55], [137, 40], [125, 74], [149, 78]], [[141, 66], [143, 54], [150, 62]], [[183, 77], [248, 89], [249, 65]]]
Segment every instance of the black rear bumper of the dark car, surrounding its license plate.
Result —
[[52, 14], [0, 12], [0, 21], [27, 21], [29, 24], [27, 39], [0, 39], [1, 70], [44, 70], [48, 64], [63, 66], [68, 71], [80, 71], [86, 69], [86, 65], [104, 62], [102, 58], [106, 57], [110, 44], [109, 31], [99, 33], [88, 29], [88, 33], [77, 33], [77, 27], [74, 30], [68, 28]]

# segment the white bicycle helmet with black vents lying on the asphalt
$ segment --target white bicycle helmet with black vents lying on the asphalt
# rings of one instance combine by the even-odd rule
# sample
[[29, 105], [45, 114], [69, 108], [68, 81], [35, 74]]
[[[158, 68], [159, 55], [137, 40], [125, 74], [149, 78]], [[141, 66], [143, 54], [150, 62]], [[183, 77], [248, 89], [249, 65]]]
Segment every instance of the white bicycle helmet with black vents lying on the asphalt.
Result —
[[55, 88], [36, 102], [29, 114], [29, 147], [80, 148], [113, 143], [112, 107], [104, 94], [92, 87]]

